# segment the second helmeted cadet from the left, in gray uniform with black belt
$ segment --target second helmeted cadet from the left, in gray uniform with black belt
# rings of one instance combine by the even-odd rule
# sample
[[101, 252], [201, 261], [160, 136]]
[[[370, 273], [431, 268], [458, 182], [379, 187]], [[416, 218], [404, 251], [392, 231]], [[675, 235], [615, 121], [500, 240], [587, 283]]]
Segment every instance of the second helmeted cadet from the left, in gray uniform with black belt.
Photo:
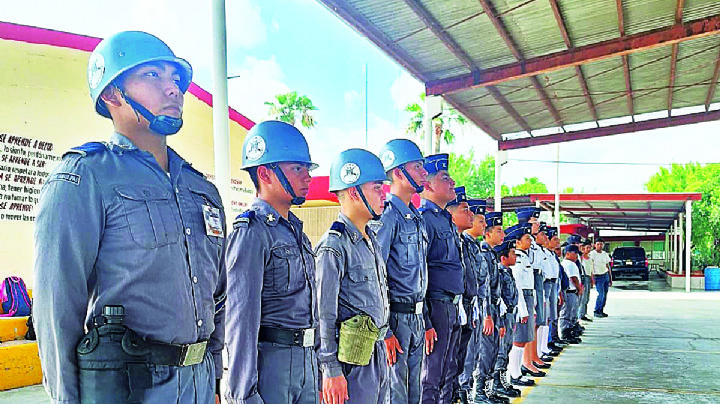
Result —
[[235, 220], [225, 254], [231, 403], [318, 400], [315, 257], [290, 212], [315, 167], [290, 124], [261, 122], [245, 136], [242, 168], [257, 197]]

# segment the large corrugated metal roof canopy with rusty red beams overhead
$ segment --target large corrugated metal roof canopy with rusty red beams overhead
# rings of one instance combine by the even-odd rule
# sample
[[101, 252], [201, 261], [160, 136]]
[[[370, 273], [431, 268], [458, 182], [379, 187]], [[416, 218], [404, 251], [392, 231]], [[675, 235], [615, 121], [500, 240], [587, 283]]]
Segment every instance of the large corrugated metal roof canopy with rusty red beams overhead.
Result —
[[501, 150], [720, 119], [716, 0], [318, 1]]

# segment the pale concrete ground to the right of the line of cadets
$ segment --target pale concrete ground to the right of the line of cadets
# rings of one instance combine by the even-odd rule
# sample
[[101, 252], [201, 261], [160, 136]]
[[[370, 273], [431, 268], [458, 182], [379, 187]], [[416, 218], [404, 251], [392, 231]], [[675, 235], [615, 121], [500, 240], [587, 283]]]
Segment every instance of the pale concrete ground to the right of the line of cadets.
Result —
[[[605, 311], [512, 403], [720, 403], [720, 292], [671, 290], [653, 274], [616, 281]], [[49, 400], [32, 386], [0, 392], [10, 403]]]

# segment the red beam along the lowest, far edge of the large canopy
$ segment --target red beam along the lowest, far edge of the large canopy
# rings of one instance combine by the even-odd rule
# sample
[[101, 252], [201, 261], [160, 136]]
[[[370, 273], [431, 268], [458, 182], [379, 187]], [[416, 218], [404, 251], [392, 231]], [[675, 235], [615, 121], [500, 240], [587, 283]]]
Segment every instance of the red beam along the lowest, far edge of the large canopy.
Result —
[[600, 128], [578, 130], [560, 133], [557, 135], [536, 136], [528, 139], [505, 140], [499, 143], [499, 150], [515, 150], [545, 144], [571, 142], [573, 140], [591, 139], [595, 137], [619, 135], [621, 133], [640, 132], [659, 128], [669, 128], [678, 125], [689, 125], [698, 122], [710, 122], [720, 119], [720, 110], [700, 112], [696, 114], [672, 116], [667, 118], [651, 119], [641, 122], [630, 122], [622, 125], [612, 125]]

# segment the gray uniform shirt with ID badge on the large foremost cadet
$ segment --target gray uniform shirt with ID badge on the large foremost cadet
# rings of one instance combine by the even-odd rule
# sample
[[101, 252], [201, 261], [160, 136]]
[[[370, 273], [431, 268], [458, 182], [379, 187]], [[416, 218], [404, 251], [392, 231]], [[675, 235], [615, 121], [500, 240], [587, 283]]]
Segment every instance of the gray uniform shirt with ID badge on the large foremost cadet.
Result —
[[[169, 174], [126, 137], [67, 153], [40, 195], [35, 309], [54, 401], [77, 402], [75, 347], [105, 305], [141, 337], [209, 340], [222, 376], [225, 214], [214, 185], [168, 149]], [[204, 209], [219, 215], [209, 235]]]

